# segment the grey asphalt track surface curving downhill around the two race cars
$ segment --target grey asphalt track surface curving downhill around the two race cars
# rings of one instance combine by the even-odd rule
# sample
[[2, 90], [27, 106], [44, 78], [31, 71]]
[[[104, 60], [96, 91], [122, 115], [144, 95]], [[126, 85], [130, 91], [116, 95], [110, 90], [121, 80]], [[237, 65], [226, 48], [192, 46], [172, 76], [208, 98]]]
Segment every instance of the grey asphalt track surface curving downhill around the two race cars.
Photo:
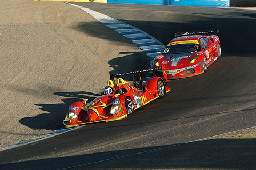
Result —
[[74, 4], [131, 24], [164, 44], [174, 38], [175, 32], [218, 28], [222, 57], [204, 74], [171, 80], [169, 94], [125, 120], [81, 126], [31, 145], [1, 151], [1, 169], [67, 168], [256, 125], [254, 10]]

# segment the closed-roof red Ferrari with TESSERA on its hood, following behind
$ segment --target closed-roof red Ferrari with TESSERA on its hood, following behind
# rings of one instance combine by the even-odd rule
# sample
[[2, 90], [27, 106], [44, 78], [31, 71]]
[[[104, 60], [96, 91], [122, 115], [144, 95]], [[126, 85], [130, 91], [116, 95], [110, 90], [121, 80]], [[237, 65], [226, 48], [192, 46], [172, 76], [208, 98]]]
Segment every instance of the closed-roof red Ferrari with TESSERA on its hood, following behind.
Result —
[[[178, 32], [161, 55], [154, 58], [152, 67], [166, 66], [168, 79], [202, 74], [221, 56], [219, 37], [215, 31]], [[163, 72], [153, 74], [163, 77]]]

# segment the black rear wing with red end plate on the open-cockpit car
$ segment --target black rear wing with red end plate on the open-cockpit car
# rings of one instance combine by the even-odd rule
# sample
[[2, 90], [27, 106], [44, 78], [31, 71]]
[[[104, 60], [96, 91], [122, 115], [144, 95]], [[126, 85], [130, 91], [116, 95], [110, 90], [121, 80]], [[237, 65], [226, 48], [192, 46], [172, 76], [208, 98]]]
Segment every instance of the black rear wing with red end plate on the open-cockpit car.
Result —
[[114, 81], [115, 77], [121, 77], [121, 76], [124, 76], [124, 75], [133, 74], [133, 86], [137, 87], [138, 85], [137, 85], [136, 80], [135, 80], [135, 74], [139, 74], [139, 77], [140, 77], [140, 84], [139, 85], [140, 85], [140, 88], [142, 88], [141, 73], [157, 71], [157, 70], [162, 70], [163, 71], [164, 78], [165, 78], [166, 82], [168, 82], [165, 66], [150, 68], [150, 69], [142, 69], [142, 70], [137, 70], [137, 71], [125, 72], [125, 73], [111, 74], [110, 75], [110, 80]]

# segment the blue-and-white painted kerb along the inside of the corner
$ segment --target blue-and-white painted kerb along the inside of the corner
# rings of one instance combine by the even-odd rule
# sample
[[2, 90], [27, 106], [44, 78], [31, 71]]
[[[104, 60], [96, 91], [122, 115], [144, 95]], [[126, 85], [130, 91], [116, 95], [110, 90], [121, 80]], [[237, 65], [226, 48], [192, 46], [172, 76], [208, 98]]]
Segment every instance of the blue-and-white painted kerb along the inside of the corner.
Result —
[[[66, 3], [70, 4], [69, 2], [66, 2]], [[149, 57], [149, 60], [153, 60], [153, 58], [155, 56], [159, 55], [159, 53], [157, 52], [158, 49], [165, 48], [165, 45], [162, 44], [160, 41], [158, 41], [154, 37], [148, 35], [146, 32], [143, 32], [142, 30], [140, 30], [138, 28], [135, 28], [135, 27], [133, 27], [129, 24], [126, 24], [124, 22], [118, 21], [114, 18], [111, 18], [110, 16], [90, 10], [89, 8], [85, 8], [85, 7], [82, 7], [79, 5], [75, 5], [75, 4], [70, 4], [70, 5], [73, 5], [77, 8], [85, 11], [86, 13], [90, 14], [95, 19], [100, 21], [102, 24], [105, 24], [107, 27], [109, 27], [109, 28], [121, 33], [123, 36], [131, 39], [133, 41], [133, 43], [135, 43], [141, 50], [143, 50], [143, 52], [146, 53], [146, 55]], [[150, 61], [150, 63], [152, 63], [152, 61]], [[149, 74], [148, 77], [150, 77], [150, 76], [151, 75]], [[15, 143], [13, 145], [9, 145], [9, 146], [0, 148], [0, 151], [15, 148], [15, 147], [22, 146], [22, 145], [26, 145], [28, 143], [43, 140], [46, 138], [50, 138], [55, 135], [65, 133], [69, 130], [71, 130], [71, 129], [55, 130], [51, 133], [42, 134], [36, 138], [28, 139], [23, 142]]]

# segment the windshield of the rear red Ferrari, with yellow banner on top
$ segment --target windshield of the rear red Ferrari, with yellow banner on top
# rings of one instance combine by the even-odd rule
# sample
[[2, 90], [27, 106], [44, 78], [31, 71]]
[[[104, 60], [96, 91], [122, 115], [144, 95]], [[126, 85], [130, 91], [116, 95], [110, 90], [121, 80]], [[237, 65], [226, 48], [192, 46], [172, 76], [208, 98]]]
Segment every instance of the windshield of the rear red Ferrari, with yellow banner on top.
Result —
[[[197, 43], [196, 43], [197, 42]], [[185, 43], [185, 41], [178, 41], [169, 43], [165, 47], [163, 54], [177, 54], [177, 53], [194, 53], [200, 50], [198, 41], [195, 43]]]

